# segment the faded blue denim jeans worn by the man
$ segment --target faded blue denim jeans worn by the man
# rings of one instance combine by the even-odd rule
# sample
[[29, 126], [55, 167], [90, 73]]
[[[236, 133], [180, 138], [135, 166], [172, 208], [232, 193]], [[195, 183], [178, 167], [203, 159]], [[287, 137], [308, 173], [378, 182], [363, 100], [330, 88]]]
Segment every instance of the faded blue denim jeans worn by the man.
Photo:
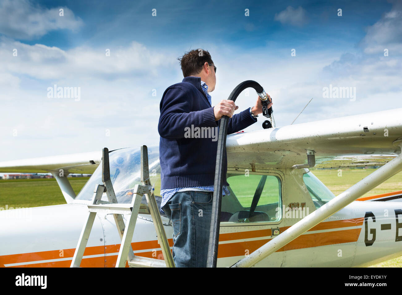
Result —
[[163, 206], [173, 224], [176, 267], [207, 267], [212, 191], [177, 191]]

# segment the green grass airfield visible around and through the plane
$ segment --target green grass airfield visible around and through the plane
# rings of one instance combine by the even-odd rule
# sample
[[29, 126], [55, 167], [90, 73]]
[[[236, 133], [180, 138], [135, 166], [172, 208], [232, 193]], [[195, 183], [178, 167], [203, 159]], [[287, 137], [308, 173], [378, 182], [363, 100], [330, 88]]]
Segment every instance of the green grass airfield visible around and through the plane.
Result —
[[[335, 195], [342, 193], [347, 188], [349, 188], [354, 183], [357, 183], [370, 173], [374, 169], [342, 169], [342, 174], [336, 169], [311, 169], [312, 173], [316, 175]], [[69, 181], [76, 193], [84, 186], [89, 177], [72, 177]], [[258, 183], [260, 177], [254, 180], [252, 188], [250, 191], [254, 191], [256, 184]], [[152, 179], [151, 179], [152, 181]], [[267, 185], [272, 187], [276, 186], [276, 182], [267, 179]], [[236, 181], [230, 181], [228, 179], [231, 187], [235, 189], [238, 185]], [[160, 191], [160, 180], [153, 181], [156, 183], [155, 191]], [[402, 190], [402, 172], [394, 175], [378, 187], [375, 187], [364, 196], [378, 195], [381, 193], [388, 193], [391, 191]], [[270, 189], [269, 191], [273, 191]], [[273, 196], [275, 197], [276, 193]], [[244, 204], [249, 204], [252, 199], [252, 195], [244, 199]], [[242, 201], [242, 200], [241, 200]], [[243, 202], [243, 201], [242, 201]], [[11, 179], [11, 180], [0, 180], [0, 207], [5, 208], [21, 208], [21, 207], [37, 207], [46, 205], [57, 205], [64, 204], [66, 201], [62, 196], [59, 186], [55, 179]], [[402, 267], [402, 256], [394, 258], [379, 264], [375, 264], [371, 267]]]

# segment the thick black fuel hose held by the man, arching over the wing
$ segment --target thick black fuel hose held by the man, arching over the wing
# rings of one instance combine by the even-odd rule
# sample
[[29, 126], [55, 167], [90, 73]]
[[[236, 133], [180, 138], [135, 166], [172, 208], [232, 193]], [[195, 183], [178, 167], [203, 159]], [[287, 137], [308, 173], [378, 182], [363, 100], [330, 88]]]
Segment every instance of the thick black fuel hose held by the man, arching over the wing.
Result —
[[[236, 101], [236, 98], [244, 89], [253, 87], [260, 95], [265, 94], [263, 87], [256, 81], [247, 80], [234, 88], [228, 100]], [[260, 96], [261, 97], [261, 96]], [[229, 117], [222, 116], [219, 125], [218, 133], [218, 147], [216, 152], [216, 165], [215, 165], [215, 181], [213, 183], [213, 201], [212, 201], [212, 214], [211, 214], [211, 227], [209, 230], [209, 243], [208, 243], [208, 258], [207, 267], [216, 267], [218, 242], [219, 242], [219, 224], [221, 221], [221, 206], [222, 206], [222, 188], [224, 177], [223, 163], [226, 156], [226, 135], [228, 134]]]

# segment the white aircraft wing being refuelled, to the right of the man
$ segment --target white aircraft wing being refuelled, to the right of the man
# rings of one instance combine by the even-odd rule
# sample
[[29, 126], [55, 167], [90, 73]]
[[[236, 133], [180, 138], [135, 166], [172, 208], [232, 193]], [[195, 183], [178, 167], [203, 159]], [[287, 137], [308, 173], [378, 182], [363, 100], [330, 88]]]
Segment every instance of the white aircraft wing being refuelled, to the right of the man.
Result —
[[[260, 122], [262, 123], [262, 122]], [[317, 168], [384, 165], [401, 152], [402, 108], [230, 134], [228, 167], [291, 168], [307, 164], [315, 152]]]

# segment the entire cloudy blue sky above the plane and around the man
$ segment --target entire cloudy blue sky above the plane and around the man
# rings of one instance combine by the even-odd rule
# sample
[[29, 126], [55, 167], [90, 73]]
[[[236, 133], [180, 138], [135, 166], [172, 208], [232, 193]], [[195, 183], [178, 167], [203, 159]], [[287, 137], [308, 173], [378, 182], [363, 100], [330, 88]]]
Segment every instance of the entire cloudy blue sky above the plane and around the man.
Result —
[[[295, 123], [399, 108], [401, 27], [401, 1], [0, 0], [0, 161], [158, 144], [159, 102], [189, 49], [217, 66], [213, 105], [254, 79], [277, 126], [312, 97]], [[54, 84], [80, 100], [49, 98]], [[355, 100], [324, 98], [329, 85]], [[239, 96], [238, 112], [255, 99]]]

